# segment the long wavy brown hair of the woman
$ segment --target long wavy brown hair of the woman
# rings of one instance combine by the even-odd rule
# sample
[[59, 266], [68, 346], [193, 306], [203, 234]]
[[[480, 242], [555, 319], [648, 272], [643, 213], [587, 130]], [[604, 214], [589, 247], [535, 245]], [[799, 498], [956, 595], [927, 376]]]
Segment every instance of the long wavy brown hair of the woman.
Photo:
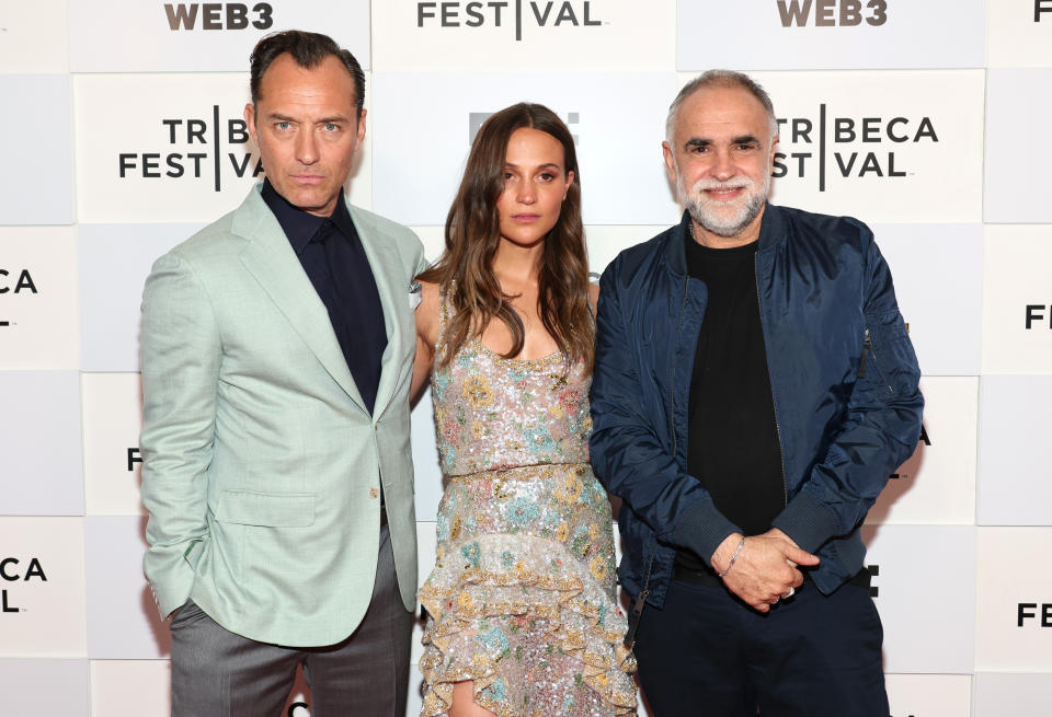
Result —
[[583, 360], [592, 370], [595, 324], [588, 307], [588, 259], [581, 222], [581, 172], [573, 137], [559, 117], [539, 104], [519, 103], [492, 115], [471, 144], [457, 197], [446, 218], [446, 251], [421, 279], [435, 282], [449, 301], [453, 316], [445, 331], [446, 365], [465, 343], [481, 336], [490, 321], [503, 321], [512, 334], [504, 358], [523, 350], [523, 320], [493, 274], [501, 243], [496, 201], [504, 192], [507, 141], [516, 129], [539, 129], [562, 144], [564, 170], [573, 172], [559, 220], [545, 238], [538, 267], [537, 313], [568, 365]]

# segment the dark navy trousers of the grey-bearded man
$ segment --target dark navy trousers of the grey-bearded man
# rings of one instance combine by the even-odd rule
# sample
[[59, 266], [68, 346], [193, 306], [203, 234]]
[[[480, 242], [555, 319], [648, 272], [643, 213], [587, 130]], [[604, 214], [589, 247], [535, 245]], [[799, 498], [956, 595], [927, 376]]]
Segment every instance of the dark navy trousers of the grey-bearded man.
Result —
[[[762, 614], [722, 586], [673, 580], [636, 637], [654, 717], [888, 717], [869, 590], [810, 581]], [[758, 712], [757, 712], [758, 710]]]

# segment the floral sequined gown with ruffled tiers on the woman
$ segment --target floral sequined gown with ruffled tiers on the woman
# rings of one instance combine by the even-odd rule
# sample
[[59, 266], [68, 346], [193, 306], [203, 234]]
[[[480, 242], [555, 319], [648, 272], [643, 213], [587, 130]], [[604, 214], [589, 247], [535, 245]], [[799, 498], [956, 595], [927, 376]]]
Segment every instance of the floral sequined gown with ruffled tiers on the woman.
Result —
[[500, 717], [636, 714], [610, 507], [588, 465], [590, 383], [559, 355], [504, 359], [478, 339], [435, 369], [447, 487], [420, 591], [423, 715], [445, 715], [461, 680]]

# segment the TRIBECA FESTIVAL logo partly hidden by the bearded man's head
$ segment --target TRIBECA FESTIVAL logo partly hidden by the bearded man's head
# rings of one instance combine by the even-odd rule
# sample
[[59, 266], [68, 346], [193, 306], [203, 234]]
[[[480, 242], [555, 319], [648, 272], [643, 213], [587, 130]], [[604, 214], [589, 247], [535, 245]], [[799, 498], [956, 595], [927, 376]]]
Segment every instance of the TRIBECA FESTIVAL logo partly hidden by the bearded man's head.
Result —
[[903, 151], [936, 144], [930, 117], [836, 116], [819, 105], [817, 116], [778, 119], [778, 147], [771, 176], [814, 178], [825, 192], [830, 178], [895, 180], [912, 174]]

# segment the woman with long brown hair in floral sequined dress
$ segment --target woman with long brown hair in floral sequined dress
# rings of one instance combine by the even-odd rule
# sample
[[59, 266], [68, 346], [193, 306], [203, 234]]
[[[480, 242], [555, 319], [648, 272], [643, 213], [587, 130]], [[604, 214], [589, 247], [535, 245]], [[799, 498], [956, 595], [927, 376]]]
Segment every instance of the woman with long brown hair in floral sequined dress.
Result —
[[414, 394], [430, 377], [446, 476], [420, 591], [426, 716], [636, 714], [610, 506], [588, 465], [596, 289], [579, 187], [551, 111], [496, 113], [421, 277]]

